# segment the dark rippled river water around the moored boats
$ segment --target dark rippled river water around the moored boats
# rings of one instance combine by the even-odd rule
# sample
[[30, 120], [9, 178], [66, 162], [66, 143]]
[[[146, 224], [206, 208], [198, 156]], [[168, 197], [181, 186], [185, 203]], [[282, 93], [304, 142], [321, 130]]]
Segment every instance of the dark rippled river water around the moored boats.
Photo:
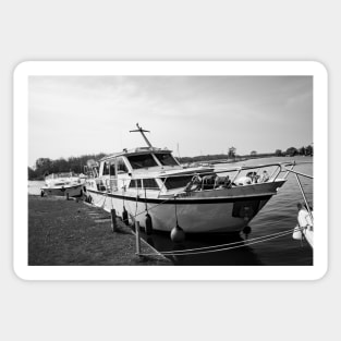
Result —
[[[273, 162], [287, 162], [295, 160], [296, 162], [312, 162], [310, 157], [295, 158], [264, 158], [253, 159], [243, 162], [217, 165], [217, 168], [230, 168], [238, 166], [265, 165]], [[313, 175], [313, 165], [302, 163], [295, 167], [295, 170]], [[271, 173], [271, 171], [269, 171]], [[309, 204], [313, 205], [313, 181], [300, 178]], [[40, 186], [44, 182], [29, 181], [28, 193], [40, 194]], [[288, 231], [296, 226], [297, 208], [296, 204], [303, 203], [303, 197], [293, 174], [289, 174], [288, 181], [279, 190], [278, 194], [267, 203], [258, 215], [249, 222], [251, 233], [241, 234], [205, 234], [187, 235], [186, 240], [180, 245], [170, 241], [169, 234], [154, 233], [143, 238], [158, 251], [178, 251], [185, 248], [207, 247], [220, 244], [233, 244], [232, 249], [220, 251], [215, 253], [205, 253], [188, 256], [170, 256], [176, 265], [266, 265], [266, 266], [295, 266], [313, 265], [313, 249], [305, 242], [295, 241], [292, 234], [287, 234], [266, 242], [258, 242], [258, 238], [269, 234]], [[209, 222], [208, 222], [209, 223]], [[258, 240], [257, 240], [258, 239]], [[246, 243], [243, 242], [246, 240]], [[257, 243], [246, 245], [255, 240]], [[248, 241], [248, 242], [247, 242]]]

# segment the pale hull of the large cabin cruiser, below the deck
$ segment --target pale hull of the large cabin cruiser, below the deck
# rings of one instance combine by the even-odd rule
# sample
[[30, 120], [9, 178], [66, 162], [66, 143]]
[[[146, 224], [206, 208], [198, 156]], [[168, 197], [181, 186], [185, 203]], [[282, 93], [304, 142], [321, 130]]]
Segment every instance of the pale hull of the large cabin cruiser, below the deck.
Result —
[[111, 194], [87, 190], [94, 205], [107, 211], [115, 209], [122, 217], [123, 205], [130, 217], [145, 227], [146, 207], [151, 217], [154, 230], [170, 232], [178, 221], [186, 233], [240, 232], [276, 194], [284, 181], [224, 191], [203, 191], [191, 196], [150, 198]]

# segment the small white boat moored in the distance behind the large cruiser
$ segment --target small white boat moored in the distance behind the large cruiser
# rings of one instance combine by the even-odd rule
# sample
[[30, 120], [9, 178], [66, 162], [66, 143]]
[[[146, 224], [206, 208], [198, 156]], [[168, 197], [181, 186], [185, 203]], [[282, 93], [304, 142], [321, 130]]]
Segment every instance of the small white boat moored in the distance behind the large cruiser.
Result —
[[82, 196], [85, 180], [73, 172], [69, 173], [52, 173], [45, 178], [45, 186], [41, 190], [41, 196]]

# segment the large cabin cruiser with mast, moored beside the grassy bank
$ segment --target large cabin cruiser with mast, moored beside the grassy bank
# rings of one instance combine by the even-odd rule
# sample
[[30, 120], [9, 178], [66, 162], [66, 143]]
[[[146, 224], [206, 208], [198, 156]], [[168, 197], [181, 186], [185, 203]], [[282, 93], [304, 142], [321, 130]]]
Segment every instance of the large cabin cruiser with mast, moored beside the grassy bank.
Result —
[[[88, 202], [146, 227], [186, 233], [239, 232], [287, 181], [280, 163], [216, 169], [184, 168], [167, 148], [156, 148], [138, 124], [146, 147], [123, 149], [87, 167]], [[271, 174], [267, 173], [271, 170]], [[148, 217], [149, 216], [149, 217]]]

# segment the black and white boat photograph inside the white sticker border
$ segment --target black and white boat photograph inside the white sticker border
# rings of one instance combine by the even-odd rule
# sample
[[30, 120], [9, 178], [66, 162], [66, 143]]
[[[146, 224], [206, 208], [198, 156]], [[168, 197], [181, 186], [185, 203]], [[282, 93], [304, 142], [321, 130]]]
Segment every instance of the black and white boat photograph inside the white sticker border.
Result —
[[31, 74], [27, 122], [29, 267], [314, 267], [313, 74]]

